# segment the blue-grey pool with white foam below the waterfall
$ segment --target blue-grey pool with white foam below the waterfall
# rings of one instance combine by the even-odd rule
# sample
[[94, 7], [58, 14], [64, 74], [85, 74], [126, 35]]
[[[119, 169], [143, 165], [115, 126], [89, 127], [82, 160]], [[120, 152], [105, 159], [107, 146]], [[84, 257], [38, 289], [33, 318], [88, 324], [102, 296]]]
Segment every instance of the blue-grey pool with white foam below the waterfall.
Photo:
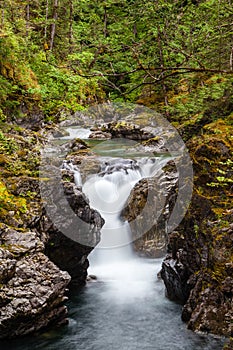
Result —
[[[156, 274], [160, 260], [123, 262], [125, 273], [109, 266], [97, 281], [73, 293], [68, 302], [69, 325], [14, 341], [1, 350], [220, 350], [223, 341], [198, 335], [181, 321], [181, 306], [164, 296]], [[112, 274], [111, 274], [112, 271]], [[100, 273], [99, 273], [100, 272]]]

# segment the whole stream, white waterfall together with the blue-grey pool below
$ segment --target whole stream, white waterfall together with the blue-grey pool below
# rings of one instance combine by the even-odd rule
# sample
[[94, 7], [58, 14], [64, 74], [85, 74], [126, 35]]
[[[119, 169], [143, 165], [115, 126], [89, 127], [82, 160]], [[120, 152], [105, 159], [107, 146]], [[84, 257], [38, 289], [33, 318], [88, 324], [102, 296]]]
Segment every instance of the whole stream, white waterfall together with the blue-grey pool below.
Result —
[[[88, 133], [82, 129], [83, 135]], [[78, 129], [73, 129], [72, 138], [79, 136]], [[101, 161], [102, 175], [92, 175], [83, 183], [91, 206], [105, 219], [101, 242], [89, 256], [88, 272], [97, 279], [72, 292], [67, 326], [0, 342], [0, 349], [222, 349], [221, 339], [186, 329], [181, 321], [182, 306], [165, 297], [164, 284], [157, 277], [162, 259], [137, 257], [130, 245], [130, 227], [119, 216], [134, 184], [159, 171], [163, 159], [140, 159], [136, 165], [111, 157]], [[78, 172], [75, 178], [80, 185]]]

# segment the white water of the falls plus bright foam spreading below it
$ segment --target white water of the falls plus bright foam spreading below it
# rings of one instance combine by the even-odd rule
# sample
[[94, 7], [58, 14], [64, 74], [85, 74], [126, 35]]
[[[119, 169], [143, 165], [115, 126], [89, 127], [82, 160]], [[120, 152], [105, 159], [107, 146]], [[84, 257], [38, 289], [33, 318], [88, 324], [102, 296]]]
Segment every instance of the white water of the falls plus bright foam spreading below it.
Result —
[[[118, 168], [123, 165], [123, 168]], [[131, 230], [123, 222], [120, 213], [133, 186], [142, 178], [153, 176], [164, 164], [164, 160], [141, 159], [134, 162], [133, 169], [127, 168], [125, 160], [104, 162], [103, 173], [91, 176], [83, 185], [83, 192], [90, 200], [90, 206], [97, 209], [105, 219], [101, 230], [101, 241], [88, 256], [89, 274], [108, 283], [106, 297], [120, 301], [143, 298], [153, 289], [156, 269], [147, 260], [139, 259], [131, 247]], [[128, 166], [130, 166], [128, 161]], [[110, 164], [109, 164], [110, 163]], [[131, 162], [132, 164], [132, 162]], [[113, 167], [118, 171], [111, 171]]]

